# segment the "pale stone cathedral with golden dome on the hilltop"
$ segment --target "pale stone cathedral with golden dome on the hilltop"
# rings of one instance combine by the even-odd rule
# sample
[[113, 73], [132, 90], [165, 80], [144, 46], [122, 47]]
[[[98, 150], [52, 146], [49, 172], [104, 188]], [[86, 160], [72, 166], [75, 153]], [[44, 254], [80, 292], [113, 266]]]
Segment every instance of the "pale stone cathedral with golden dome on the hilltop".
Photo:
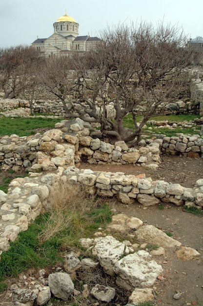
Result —
[[87, 52], [100, 39], [98, 37], [78, 36], [79, 23], [74, 18], [65, 15], [53, 24], [54, 33], [48, 38], [37, 38], [32, 43], [41, 54], [46, 56], [58, 55], [68, 51]]

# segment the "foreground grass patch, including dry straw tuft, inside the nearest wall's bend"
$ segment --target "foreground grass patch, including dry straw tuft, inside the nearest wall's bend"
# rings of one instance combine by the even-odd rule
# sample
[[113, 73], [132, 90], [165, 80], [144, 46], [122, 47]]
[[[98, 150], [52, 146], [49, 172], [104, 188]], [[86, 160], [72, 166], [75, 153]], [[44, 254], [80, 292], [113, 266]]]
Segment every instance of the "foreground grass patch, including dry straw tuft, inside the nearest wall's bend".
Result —
[[0, 291], [5, 290], [6, 278], [29, 268], [37, 270], [61, 262], [64, 252], [78, 250], [80, 238], [91, 237], [98, 227], [105, 228], [111, 216], [109, 206], [100, 199], [86, 196], [82, 186], [64, 184], [55, 188], [46, 212], [2, 253]]

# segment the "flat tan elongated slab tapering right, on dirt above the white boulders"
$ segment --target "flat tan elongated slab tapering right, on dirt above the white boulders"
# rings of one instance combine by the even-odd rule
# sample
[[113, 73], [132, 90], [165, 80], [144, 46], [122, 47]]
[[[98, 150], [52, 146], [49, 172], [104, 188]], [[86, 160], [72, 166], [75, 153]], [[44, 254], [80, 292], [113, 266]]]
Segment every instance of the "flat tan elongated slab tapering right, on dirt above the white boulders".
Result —
[[154, 243], [156, 245], [165, 247], [176, 247], [180, 246], [181, 242], [167, 236], [160, 229], [153, 225], [143, 225], [136, 231], [138, 240], [146, 243]]

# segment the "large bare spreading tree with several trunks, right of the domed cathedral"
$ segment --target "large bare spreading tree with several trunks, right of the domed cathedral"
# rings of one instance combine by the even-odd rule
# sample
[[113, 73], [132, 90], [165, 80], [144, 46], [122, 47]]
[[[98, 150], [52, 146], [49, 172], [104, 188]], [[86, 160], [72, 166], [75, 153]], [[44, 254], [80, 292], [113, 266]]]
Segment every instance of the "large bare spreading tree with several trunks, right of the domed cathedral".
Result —
[[[99, 122], [111, 142], [134, 145], [160, 104], [188, 85], [183, 74], [191, 64], [192, 50], [186, 47], [183, 31], [171, 25], [118, 25], [104, 30], [101, 38], [88, 53], [49, 59], [42, 69], [43, 80], [61, 99], [67, 118]], [[115, 109], [113, 120], [108, 117], [110, 103]], [[140, 105], [145, 110], [138, 123]], [[134, 129], [123, 126], [127, 113], [132, 114]]]

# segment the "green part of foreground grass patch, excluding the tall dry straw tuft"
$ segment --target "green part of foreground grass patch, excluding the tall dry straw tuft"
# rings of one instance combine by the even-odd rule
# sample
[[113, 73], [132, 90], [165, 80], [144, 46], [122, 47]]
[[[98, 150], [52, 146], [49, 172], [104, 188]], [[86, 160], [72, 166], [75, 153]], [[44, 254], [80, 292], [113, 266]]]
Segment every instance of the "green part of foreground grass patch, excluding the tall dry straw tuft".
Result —
[[[61, 230], [53, 231], [47, 239], [41, 239], [43, 233], [50, 230], [53, 215], [41, 214], [25, 232], [10, 243], [7, 252], [3, 252], [0, 261], [0, 292], [6, 288], [6, 278], [15, 277], [28, 268], [44, 268], [62, 261], [62, 252], [79, 247], [79, 239], [95, 232], [95, 228], [104, 228], [111, 220], [112, 212], [106, 204], [82, 214], [80, 211], [63, 210], [68, 222]], [[88, 236], [89, 237], [89, 236]]]

